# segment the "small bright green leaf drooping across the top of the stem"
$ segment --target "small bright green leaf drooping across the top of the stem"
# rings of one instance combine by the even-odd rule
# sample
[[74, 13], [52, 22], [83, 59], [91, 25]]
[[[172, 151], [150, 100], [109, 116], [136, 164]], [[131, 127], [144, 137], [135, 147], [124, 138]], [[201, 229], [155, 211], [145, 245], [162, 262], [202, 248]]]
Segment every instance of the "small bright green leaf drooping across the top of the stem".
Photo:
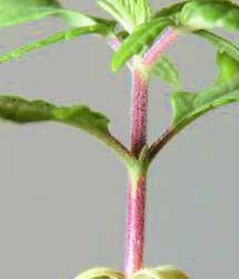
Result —
[[112, 57], [111, 69], [118, 71], [133, 56], [139, 53], [145, 47], [152, 43], [155, 39], [169, 26], [172, 21], [167, 18], [151, 20], [148, 23], [137, 28], [136, 31], [127, 37], [122, 46]]

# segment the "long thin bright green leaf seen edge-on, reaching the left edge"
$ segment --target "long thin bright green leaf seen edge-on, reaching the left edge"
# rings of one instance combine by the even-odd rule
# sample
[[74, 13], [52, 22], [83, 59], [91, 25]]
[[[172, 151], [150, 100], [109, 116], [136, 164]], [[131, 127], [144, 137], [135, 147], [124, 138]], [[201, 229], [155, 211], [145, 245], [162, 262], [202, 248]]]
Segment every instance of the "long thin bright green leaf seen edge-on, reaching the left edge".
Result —
[[4, 63], [11, 60], [16, 60], [27, 54], [28, 52], [46, 48], [47, 46], [58, 43], [60, 41], [69, 41], [79, 38], [82, 34], [99, 33], [107, 34], [108, 29], [102, 24], [93, 24], [91, 27], [73, 28], [68, 31], [56, 32], [52, 36], [43, 38], [41, 40], [32, 41], [26, 46], [13, 49], [7, 53], [0, 54], [0, 63]]

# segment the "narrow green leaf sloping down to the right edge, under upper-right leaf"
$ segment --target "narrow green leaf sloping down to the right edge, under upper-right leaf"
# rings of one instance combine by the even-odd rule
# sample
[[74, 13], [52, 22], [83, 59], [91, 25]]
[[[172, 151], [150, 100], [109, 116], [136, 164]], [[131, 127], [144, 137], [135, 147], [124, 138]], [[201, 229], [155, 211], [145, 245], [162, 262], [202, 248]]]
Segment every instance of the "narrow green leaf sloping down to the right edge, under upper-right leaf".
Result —
[[229, 40], [212, 32], [209, 32], [207, 30], [199, 30], [193, 33], [210, 41], [218, 49], [223, 50], [228, 56], [230, 56], [231, 58], [233, 58], [236, 61], [239, 62], [239, 48]]

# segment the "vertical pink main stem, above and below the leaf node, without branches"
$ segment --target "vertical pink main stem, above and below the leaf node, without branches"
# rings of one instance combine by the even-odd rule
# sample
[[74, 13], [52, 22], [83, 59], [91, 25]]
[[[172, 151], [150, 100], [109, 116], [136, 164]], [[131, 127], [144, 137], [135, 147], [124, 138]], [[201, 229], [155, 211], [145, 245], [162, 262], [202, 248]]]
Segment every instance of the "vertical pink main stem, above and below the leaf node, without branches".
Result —
[[[148, 77], [142, 70], [132, 70], [132, 99], [130, 122], [130, 151], [139, 158], [140, 151], [147, 143], [148, 114]], [[125, 276], [127, 279], [142, 268], [145, 208], [146, 208], [146, 168], [140, 166], [129, 170], [129, 186], [127, 199], [127, 230]]]

